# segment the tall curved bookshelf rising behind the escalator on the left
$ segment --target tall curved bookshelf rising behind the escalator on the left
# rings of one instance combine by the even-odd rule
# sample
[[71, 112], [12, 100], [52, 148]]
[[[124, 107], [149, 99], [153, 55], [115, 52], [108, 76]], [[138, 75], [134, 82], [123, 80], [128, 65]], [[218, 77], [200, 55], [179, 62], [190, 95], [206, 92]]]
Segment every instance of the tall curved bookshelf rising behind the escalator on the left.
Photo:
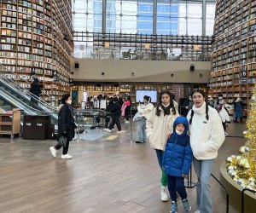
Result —
[[[2, 0], [0, 63], [6, 75], [29, 88], [36, 75], [55, 100], [69, 91], [73, 51], [70, 0]], [[45, 101], [49, 97], [42, 94]]]

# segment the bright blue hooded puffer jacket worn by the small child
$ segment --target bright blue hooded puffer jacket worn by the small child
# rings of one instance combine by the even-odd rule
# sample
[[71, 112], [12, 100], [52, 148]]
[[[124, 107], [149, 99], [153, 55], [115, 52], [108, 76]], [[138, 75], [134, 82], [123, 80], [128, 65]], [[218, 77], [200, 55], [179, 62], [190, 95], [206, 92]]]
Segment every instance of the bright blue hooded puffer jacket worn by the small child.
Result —
[[[177, 124], [184, 124], [183, 134], [177, 135], [175, 127]], [[193, 153], [190, 147], [189, 123], [185, 117], [177, 117], [173, 123], [173, 133], [166, 142], [166, 150], [163, 156], [163, 170], [169, 176], [182, 176], [189, 174]]]

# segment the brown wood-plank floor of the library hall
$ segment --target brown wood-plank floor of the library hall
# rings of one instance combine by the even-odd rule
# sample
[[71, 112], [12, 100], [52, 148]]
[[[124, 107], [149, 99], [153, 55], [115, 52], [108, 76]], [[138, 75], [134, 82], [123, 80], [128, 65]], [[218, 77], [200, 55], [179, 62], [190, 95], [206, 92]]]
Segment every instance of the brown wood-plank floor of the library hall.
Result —
[[[80, 137], [85, 140], [71, 143], [72, 160], [61, 159], [61, 153], [51, 156], [49, 147], [55, 141], [17, 138], [10, 142], [0, 137], [0, 212], [169, 212], [170, 201], [160, 201], [160, 168], [154, 150], [148, 143], [131, 142], [130, 124], [122, 125], [126, 131], [121, 135], [88, 130], [90, 140], [85, 134]], [[136, 129], [135, 124], [132, 140], [137, 139]], [[243, 130], [245, 124], [229, 124], [230, 137], [219, 151], [214, 176], [219, 178], [219, 165], [244, 144]], [[187, 192], [194, 212], [195, 187]], [[225, 212], [225, 199], [213, 179], [212, 203], [214, 213]], [[178, 212], [183, 212], [180, 200]], [[236, 213], [231, 206], [230, 213]]]

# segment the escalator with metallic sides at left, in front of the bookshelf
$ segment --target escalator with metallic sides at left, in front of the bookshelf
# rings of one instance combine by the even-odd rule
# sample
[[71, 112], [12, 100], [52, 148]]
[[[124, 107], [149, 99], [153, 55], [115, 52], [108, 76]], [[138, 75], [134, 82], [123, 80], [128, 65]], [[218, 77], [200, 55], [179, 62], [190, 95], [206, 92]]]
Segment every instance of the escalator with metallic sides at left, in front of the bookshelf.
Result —
[[[52, 107], [48, 102], [38, 99], [28, 89], [23, 88], [19, 83], [15, 83], [14, 78], [10, 78], [10, 76], [17, 78], [15, 72], [11, 72], [3, 65], [0, 65], [0, 107], [5, 111], [9, 111], [14, 107], [20, 108], [24, 115], [49, 115], [51, 123], [56, 125], [58, 121], [56, 107]], [[28, 85], [30, 84], [26, 79], [21, 80]], [[44, 96], [47, 96], [50, 101], [55, 101], [47, 94], [44, 94]], [[37, 101], [35, 103], [32, 100]]]

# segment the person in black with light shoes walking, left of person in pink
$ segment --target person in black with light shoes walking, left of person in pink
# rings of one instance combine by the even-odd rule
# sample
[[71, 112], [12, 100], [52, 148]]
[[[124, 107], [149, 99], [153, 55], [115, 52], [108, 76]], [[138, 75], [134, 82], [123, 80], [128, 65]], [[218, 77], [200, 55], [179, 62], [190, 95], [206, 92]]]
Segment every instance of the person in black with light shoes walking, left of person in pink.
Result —
[[109, 124], [107, 131], [111, 132], [114, 124], [116, 124], [118, 128], [118, 133], [122, 133], [121, 124], [119, 121], [119, 117], [120, 117], [119, 99], [117, 97], [113, 97], [113, 105], [110, 108], [110, 112], [111, 112], [111, 123]]

